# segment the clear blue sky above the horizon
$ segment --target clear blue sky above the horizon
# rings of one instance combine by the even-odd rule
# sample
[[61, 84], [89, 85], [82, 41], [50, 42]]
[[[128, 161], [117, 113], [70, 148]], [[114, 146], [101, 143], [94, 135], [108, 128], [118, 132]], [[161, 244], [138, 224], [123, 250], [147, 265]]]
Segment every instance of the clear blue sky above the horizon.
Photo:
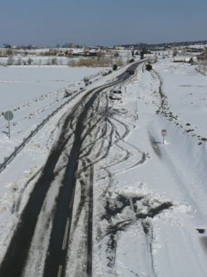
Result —
[[1, 1], [0, 45], [207, 39], [206, 0]]

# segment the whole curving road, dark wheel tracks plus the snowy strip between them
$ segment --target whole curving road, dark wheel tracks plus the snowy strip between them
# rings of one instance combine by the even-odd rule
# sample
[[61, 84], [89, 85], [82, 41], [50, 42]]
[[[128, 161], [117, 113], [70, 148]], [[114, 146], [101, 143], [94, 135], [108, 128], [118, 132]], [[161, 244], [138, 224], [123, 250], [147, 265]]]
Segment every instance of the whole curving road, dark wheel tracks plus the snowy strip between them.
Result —
[[[100, 121], [105, 117], [99, 112], [99, 93], [128, 77], [129, 73], [124, 73], [115, 82], [88, 91], [72, 111], [61, 118], [59, 139], [54, 143], [46, 164], [39, 172], [32, 193], [21, 213], [15, 233], [1, 262], [1, 275], [8, 277], [14, 274], [15, 276], [21, 276], [21, 274], [24, 276], [34, 274], [50, 277], [65, 276], [68, 236], [71, 229], [77, 179], [80, 183], [82, 182], [86, 193], [89, 192], [89, 197], [86, 197], [82, 208], [88, 213], [88, 220], [83, 222], [83, 225], [88, 229], [87, 242], [90, 241], [86, 244], [88, 255], [85, 257], [90, 257], [85, 258], [87, 265], [85, 266], [88, 274], [91, 275], [92, 186], [90, 184], [92, 181], [87, 185], [87, 179], [81, 179], [81, 172], [77, 171], [77, 166], [79, 163], [83, 164], [81, 171], [87, 177], [87, 168], [92, 170], [92, 165], [95, 163], [87, 158], [94, 144], [92, 141], [88, 145], [88, 139], [97, 125], [99, 128], [95, 133], [99, 133]], [[106, 96], [103, 98], [105, 98], [107, 107], [108, 98]], [[15, 205], [14, 210], [19, 211], [19, 204]], [[75, 220], [78, 222], [79, 217], [75, 217]], [[75, 224], [72, 226], [76, 228]], [[46, 260], [44, 265], [43, 260]]]

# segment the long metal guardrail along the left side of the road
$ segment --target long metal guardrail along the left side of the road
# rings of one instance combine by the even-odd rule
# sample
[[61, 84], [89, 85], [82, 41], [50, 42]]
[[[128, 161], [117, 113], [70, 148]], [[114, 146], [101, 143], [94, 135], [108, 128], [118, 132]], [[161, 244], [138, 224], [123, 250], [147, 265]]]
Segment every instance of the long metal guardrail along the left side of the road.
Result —
[[14, 159], [14, 157], [16, 157], [16, 155], [21, 151], [22, 148], [24, 148], [24, 146], [28, 143], [28, 141], [30, 141], [30, 139], [32, 138], [32, 136], [34, 136], [34, 134], [37, 134], [37, 132], [39, 131], [39, 129], [41, 129], [41, 127], [43, 127], [43, 125], [45, 125], [50, 118], [52, 118], [52, 116], [55, 116], [55, 114], [57, 114], [58, 111], [60, 111], [65, 105], [67, 105], [70, 101], [72, 101], [74, 98], [76, 98], [77, 96], [79, 96], [80, 93], [82, 93], [82, 91], [79, 91], [77, 93], [75, 93], [74, 96], [72, 96], [70, 99], [68, 99], [66, 102], [63, 102], [62, 105], [60, 105], [59, 107], [57, 107], [57, 109], [55, 109], [54, 111], [52, 111], [51, 114], [49, 114], [45, 119], [42, 120], [41, 123], [39, 123], [37, 125], [37, 127], [32, 130], [30, 132], [30, 134], [23, 139], [23, 142], [19, 145], [14, 147], [14, 151], [10, 154], [10, 156], [8, 157], [4, 157], [4, 161], [3, 163], [0, 163], [0, 172], [3, 171], [4, 168], [6, 168], [6, 166], [8, 166], [8, 164], [12, 161], [12, 159]]

